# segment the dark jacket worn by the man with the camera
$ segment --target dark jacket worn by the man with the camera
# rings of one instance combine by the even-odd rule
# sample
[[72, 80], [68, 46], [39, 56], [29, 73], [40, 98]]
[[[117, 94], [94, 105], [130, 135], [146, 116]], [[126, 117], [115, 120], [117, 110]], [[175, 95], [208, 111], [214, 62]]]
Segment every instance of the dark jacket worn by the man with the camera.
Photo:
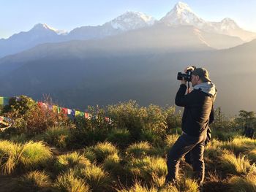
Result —
[[185, 95], [187, 86], [181, 84], [176, 94], [175, 104], [184, 108], [181, 129], [184, 133], [199, 137], [206, 133], [209, 123], [214, 121], [214, 99], [200, 90]]

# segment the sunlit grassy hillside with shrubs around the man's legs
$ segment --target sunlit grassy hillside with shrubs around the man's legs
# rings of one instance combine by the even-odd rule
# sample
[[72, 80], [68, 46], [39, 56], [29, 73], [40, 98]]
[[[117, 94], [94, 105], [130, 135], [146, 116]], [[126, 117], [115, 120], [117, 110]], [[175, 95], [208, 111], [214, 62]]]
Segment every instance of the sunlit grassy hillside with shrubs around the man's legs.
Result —
[[256, 139], [243, 136], [254, 112], [226, 118], [217, 109], [202, 188], [184, 159], [178, 183], [165, 185], [167, 151], [181, 134], [175, 107], [128, 101], [89, 112], [94, 118], [71, 120], [25, 96], [1, 109], [14, 120], [0, 134], [1, 191], [256, 190]]

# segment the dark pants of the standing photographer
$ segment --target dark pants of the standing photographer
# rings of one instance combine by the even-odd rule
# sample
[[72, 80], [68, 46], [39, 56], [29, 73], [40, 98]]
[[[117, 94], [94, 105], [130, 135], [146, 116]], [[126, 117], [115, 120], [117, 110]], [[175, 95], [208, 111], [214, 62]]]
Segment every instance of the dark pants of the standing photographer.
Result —
[[182, 134], [170, 149], [167, 155], [167, 175], [165, 182], [169, 183], [178, 179], [178, 166], [183, 155], [191, 154], [192, 167], [195, 171], [195, 177], [199, 183], [204, 180], [205, 164], [203, 161], [203, 152], [206, 141], [206, 131], [200, 137], [192, 137]]

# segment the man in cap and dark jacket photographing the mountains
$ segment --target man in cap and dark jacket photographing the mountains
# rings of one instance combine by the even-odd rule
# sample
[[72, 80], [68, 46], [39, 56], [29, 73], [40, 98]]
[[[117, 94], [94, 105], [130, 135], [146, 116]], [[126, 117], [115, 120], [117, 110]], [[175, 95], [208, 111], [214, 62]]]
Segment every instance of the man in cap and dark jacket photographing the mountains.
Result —
[[[193, 67], [187, 67], [184, 72], [189, 69]], [[166, 183], [178, 179], [179, 161], [187, 153], [190, 153], [192, 158], [192, 167], [198, 183], [203, 183], [204, 180], [203, 152], [210, 116], [214, 119], [213, 104], [217, 91], [206, 69], [195, 69], [191, 82], [193, 91], [186, 94], [187, 81], [183, 79], [176, 94], [176, 105], [185, 108], [181, 123], [182, 134], [167, 154]]]

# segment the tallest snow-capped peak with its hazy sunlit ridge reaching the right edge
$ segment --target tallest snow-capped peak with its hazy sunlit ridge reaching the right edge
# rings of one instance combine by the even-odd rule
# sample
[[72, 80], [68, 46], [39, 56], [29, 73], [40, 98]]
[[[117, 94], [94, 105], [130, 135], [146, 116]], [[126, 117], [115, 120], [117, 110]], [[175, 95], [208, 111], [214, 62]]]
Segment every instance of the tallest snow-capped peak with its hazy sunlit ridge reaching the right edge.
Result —
[[183, 2], [178, 2], [170, 12], [167, 12], [165, 17], [159, 20], [159, 23], [165, 23], [167, 26], [195, 26], [206, 32], [239, 37], [244, 41], [256, 38], [255, 33], [244, 31], [230, 18], [225, 18], [220, 22], [203, 20], [192, 11], [188, 4]]

